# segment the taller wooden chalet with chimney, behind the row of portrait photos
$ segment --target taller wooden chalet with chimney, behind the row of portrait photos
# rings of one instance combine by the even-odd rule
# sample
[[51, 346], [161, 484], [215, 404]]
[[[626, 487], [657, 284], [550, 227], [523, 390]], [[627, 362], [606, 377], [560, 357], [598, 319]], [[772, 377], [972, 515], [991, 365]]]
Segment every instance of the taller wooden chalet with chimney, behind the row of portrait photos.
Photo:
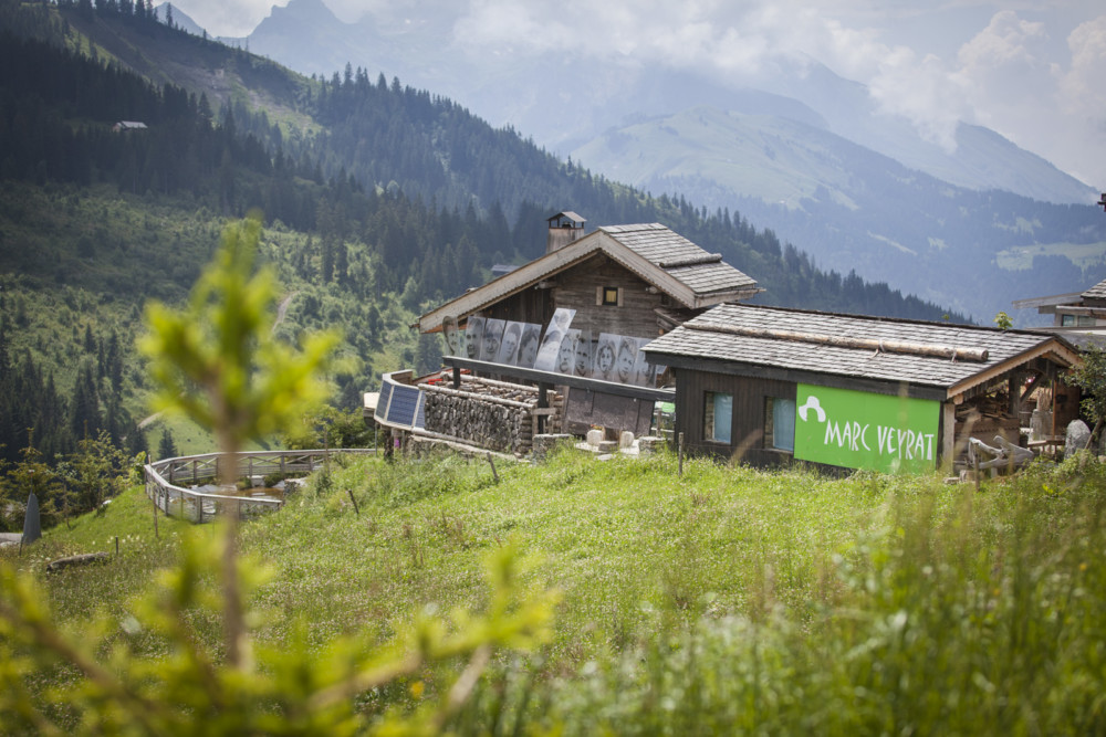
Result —
[[[572, 333], [573, 345], [584, 354], [602, 355], [602, 340], [617, 338], [636, 356], [641, 345], [706, 309], [762, 291], [720, 254], [658, 223], [604, 227], [585, 234], [584, 219], [571, 211], [547, 222], [545, 255], [422, 315], [419, 330], [456, 328], [463, 335], [477, 320], [499, 320], [508, 326], [507, 334], [512, 324], [534, 335], [540, 331], [544, 346], [555, 335], [554, 317], [571, 313], [571, 329], [564, 327], [563, 333]], [[505, 336], [502, 340], [508, 343]], [[561, 343], [562, 349], [567, 343]], [[472, 345], [470, 340], [467, 347]], [[557, 422], [581, 434], [592, 425], [645, 434], [655, 402], [672, 396], [671, 389], [657, 388], [655, 367], [644, 367], [644, 358], [635, 366], [640, 380], [630, 386], [625, 372], [619, 379], [613, 371], [599, 377], [591, 370], [543, 370], [540, 357], [536, 362], [523, 360], [521, 350], [514, 360], [497, 361], [456, 346], [450, 350], [447, 341], [447, 354], [444, 362], [455, 370], [455, 388], [460, 388], [461, 370], [536, 385], [541, 412], [546, 411], [546, 392], [559, 388], [564, 415]], [[544, 427], [544, 419], [541, 423]]]

